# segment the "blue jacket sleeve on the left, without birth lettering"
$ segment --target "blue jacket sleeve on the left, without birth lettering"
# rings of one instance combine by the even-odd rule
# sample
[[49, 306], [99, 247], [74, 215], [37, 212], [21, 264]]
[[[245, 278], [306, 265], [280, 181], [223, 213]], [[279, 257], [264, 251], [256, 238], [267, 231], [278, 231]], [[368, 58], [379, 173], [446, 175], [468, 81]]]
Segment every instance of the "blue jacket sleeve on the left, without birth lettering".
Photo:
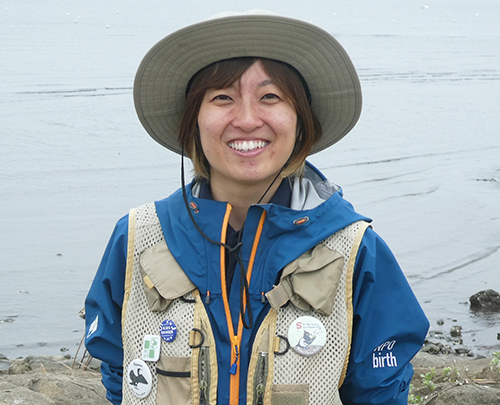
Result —
[[113, 404], [122, 400], [121, 313], [127, 262], [128, 217], [120, 219], [85, 300], [85, 346], [102, 360], [102, 383]]

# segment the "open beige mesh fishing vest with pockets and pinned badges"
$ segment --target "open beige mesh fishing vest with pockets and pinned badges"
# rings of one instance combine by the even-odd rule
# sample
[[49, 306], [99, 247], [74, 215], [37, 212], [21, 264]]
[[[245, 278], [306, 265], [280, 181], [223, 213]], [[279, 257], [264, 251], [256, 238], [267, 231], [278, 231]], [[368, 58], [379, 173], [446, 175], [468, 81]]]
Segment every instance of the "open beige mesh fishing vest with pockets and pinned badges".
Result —
[[[247, 405], [342, 404], [352, 275], [367, 227], [359, 221], [327, 238], [288, 264], [267, 292], [271, 309], [253, 343]], [[156, 360], [148, 337], [169, 320], [175, 339], [160, 345]], [[168, 250], [154, 204], [129, 215], [122, 331], [123, 405], [217, 404], [217, 342], [196, 286]], [[149, 355], [152, 361], [142, 360]]]

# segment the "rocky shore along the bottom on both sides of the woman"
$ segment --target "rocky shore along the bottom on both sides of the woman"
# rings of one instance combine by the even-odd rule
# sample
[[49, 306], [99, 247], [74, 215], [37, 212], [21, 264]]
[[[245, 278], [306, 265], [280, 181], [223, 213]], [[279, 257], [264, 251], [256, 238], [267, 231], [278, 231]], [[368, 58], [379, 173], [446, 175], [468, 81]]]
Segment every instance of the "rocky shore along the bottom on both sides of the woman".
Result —
[[[425, 350], [412, 361], [415, 375], [411, 403], [500, 403], [500, 373], [491, 367], [492, 358], [433, 355]], [[83, 370], [68, 357], [0, 359], [0, 405], [109, 405], [99, 362], [93, 360]]]

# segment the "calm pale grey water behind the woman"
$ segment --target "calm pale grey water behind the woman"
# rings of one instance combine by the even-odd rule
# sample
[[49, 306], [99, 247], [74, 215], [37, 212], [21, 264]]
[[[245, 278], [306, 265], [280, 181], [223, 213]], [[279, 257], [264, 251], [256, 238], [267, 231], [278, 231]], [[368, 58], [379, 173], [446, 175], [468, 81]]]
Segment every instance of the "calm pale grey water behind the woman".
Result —
[[116, 220], [179, 187], [179, 158], [133, 109], [142, 56], [186, 24], [252, 8], [318, 24], [348, 50], [363, 114], [311, 161], [374, 218], [432, 329], [460, 324], [476, 353], [500, 348], [499, 316], [468, 307], [477, 291], [500, 290], [498, 2], [0, 5], [2, 355], [74, 354]]

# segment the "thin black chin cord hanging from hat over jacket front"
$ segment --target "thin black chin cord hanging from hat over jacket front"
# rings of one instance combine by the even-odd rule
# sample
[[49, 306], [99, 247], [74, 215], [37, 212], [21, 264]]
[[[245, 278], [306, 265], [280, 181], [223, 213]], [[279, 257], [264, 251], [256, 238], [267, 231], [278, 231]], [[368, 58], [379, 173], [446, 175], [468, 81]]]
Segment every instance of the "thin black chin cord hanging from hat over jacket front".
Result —
[[[284, 167], [281, 168], [281, 170], [278, 172], [276, 177], [273, 179], [267, 190], [262, 194], [262, 197], [260, 197], [259, 201], [257, 204], [260, 204], [260, 202], [264, 199], [265, 195], [269, 192], [273, 184], [276, 182], [278, 179], [279, 175], [283, 171]], [[243, 258], [241, 256], [241, 247], [243, 246], [243, 242], [241, 241], [242, 235], [243, 235], [243, 229], [245, 227], [245, 224], [243, 224], [239, 234], [238, 234], [238, 243], [234, 246], [230, 246], [226, 243], [219, 242], [216, 240], [211, 239], [208, 235], [205, 234], [199, 227], [199, 225], [196, 223], [193, 213], [189, 209], [189, 202], [187, 198], [187, 193], [186, 193], [186, 183], [184, 180], [184, 146], [182, 146], [181, 149], [181, 185], [182, 185], [182, 197], [184, 199], [184, 205], [186, 206], [186, 209], [189, 214], [189, 218], [191, 218], [191, 222], [195, 226], [196, 230], [200, 233], [201, 236], [203, 236], [207, 241], [210, 243], [213, 243], [218, 246], [223, 246], [224, 249], [228, 252], [228, 254], [232, 254], [233, 252], [236, 253], [236, 260], [238, 261], [238, 265], [240, 266], [240, 317], [243, 322], [243, 326], [245, 329], [251, 329], [253, 326], [253, 314], [252, 314], [252, 308], [250, 305], [250, 292], [249, 292], [249, 285], [248, 285], [248, 280], [246, 277], [246, 269], [243, 264]], [[245, 305], [244, 305], [244, 298], [246, 298], [246, 302], [248, 302], [247, 306], [247, 315], [248, 315], [248, 323], [245, 317]]]

